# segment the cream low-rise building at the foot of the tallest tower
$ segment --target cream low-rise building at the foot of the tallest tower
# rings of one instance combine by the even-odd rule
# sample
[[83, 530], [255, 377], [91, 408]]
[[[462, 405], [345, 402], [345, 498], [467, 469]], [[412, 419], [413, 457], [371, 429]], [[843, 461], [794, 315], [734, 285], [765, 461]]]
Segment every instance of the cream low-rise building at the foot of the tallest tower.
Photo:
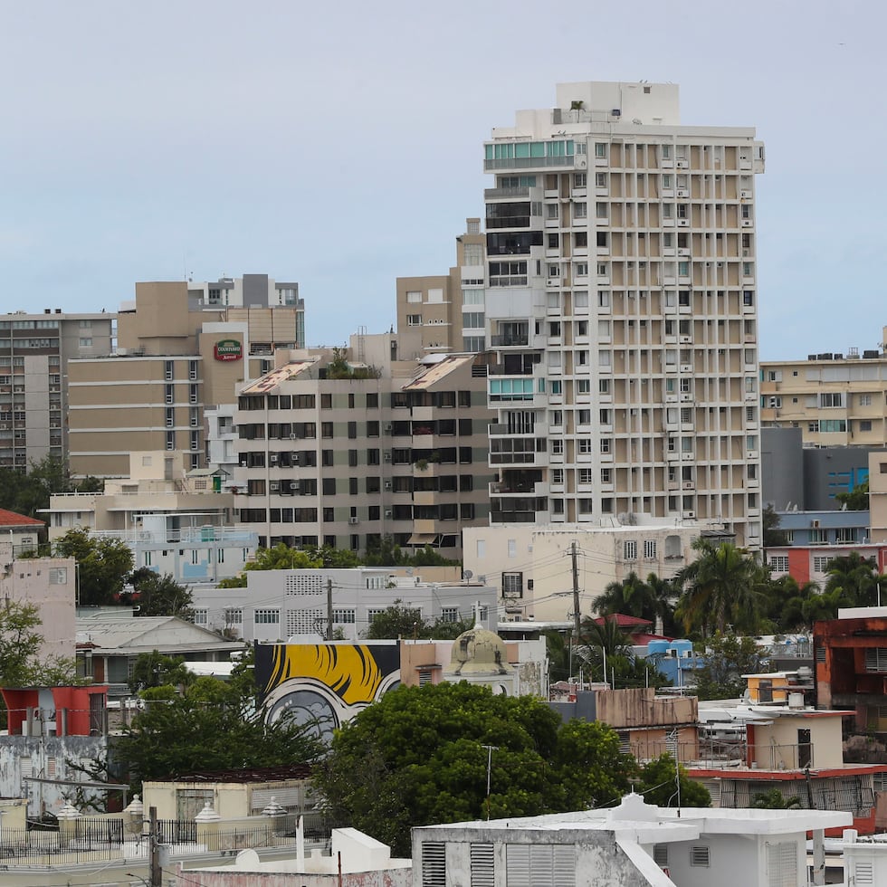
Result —
[[692, 540], [720, 536], [720, 522], [638, 519], [622, 526], [513, 524], [463, 530], [463, 562], [476, 581], [501, 589], [500, 622], [573, 622], [571, 548], [576, 543], [579, 616], [629, 573], [673, 577], [691, 563]]

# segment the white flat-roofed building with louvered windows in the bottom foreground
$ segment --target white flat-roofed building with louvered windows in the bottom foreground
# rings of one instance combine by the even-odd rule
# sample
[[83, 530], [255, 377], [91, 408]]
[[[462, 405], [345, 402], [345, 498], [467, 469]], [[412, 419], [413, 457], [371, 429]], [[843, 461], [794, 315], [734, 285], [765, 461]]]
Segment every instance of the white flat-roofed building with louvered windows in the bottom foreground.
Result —
[[413, 829], [413, 887], [806, 887], [806, 832], [849, 813], [657, 807], [640, 795], [584, 810]]

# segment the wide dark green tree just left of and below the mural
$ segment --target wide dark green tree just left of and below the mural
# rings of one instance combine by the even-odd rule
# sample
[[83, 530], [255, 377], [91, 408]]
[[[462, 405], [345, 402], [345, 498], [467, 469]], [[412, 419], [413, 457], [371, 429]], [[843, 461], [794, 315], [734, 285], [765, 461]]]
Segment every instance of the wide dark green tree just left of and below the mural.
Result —
[[199, 678], [182, 695], [168, 691], [145, 691], [147, 708], [115, 744], [115, 758], [134, 791], [146, 779], [310, 763], [323, 751], [311, 724], [281, 719], [266, 725], [254, 710], [252, 688], [244, 692], [243, 682]]

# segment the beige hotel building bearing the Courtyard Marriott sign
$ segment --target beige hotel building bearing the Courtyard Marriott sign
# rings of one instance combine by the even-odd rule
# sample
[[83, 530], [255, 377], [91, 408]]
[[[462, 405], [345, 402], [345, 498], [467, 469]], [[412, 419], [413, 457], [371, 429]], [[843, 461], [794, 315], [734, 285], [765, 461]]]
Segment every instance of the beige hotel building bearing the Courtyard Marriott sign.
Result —
[[116, 351], [69, 367], [75, 476], [125, 476], [134, 450], [182, 450], [204, 467], [205, 408], [232, 404], [278, 348], [303, 344], [304, 305], [295, 283], [264, 274], [137, 283], [118, 325]]

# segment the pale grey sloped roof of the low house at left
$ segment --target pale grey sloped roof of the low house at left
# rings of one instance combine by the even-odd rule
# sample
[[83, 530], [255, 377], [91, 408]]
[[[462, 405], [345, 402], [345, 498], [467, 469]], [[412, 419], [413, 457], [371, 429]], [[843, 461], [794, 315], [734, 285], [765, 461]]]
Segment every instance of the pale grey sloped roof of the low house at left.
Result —
[[161, 653], [209, 649], [240, 650], [243, 644], [225, 641], [218, 634], [177, 616], [77, 617], [77, 645], [105, 652]]

